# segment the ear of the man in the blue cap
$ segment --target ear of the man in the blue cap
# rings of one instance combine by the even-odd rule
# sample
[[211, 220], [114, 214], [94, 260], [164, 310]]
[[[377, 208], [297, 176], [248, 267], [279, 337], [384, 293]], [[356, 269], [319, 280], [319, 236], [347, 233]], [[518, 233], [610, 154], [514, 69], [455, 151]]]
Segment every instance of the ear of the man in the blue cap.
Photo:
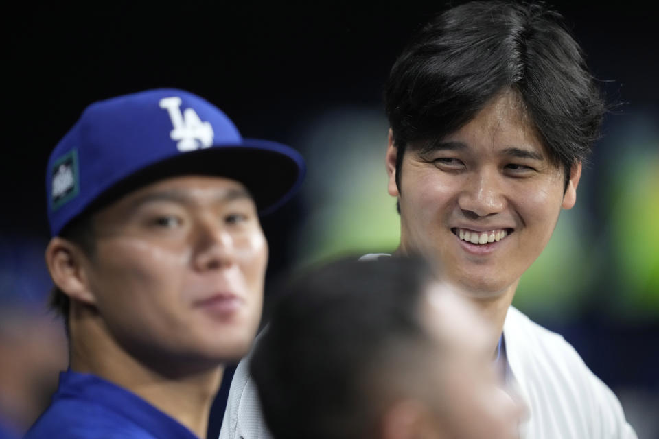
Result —
[[88, 264], [82, 250], [76, 244], [53, 237], [46, 248], [46, 265], [55, 285], [71, 300], [94, 305], [95, 296], [89, 287]]

